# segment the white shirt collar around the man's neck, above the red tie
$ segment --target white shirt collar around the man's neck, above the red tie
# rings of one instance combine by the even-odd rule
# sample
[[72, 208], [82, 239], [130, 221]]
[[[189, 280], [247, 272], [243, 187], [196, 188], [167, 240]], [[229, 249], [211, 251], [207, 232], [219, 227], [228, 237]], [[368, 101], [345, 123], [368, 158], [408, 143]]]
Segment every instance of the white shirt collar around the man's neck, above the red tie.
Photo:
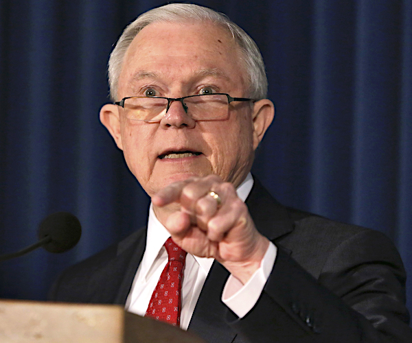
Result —
[[[242, 199], [244, 202], [246, 198], [249, 196], [251, 189], [253, 187], [253, 177], [252, 174], [247, 174], [247, 177], [244, 179], [242, 184], [236, 189], [236, 193], [238, 197]], [[170, 237], [170, 233], [166, 228], [159, 222], [155, 215], [155, 211], [153, 211], [152, 203], [150, 203], [149, 208], [149, 217], [148, 217], [148, 237], [146, 241], [146, 251], [144, 252], [145, 258], [142, 261], [142, 268], [143, 270], [150, 270], [151, 266], [155, 262], [155, 259], [158, 257], [163, 244], [165, 241]], [[211, 263], [213, 263], [214, 259], [206, 258], [206, 257], [198, 257], [194, 256], [194, 259], [201, 265], [206, 272], [209, 272], [211, 267]]]

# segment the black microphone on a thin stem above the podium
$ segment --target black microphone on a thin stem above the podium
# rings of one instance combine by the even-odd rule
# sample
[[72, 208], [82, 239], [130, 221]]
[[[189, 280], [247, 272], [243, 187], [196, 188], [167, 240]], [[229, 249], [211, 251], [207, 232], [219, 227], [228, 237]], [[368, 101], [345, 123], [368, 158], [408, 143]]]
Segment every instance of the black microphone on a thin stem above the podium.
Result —
[[76, 246], [82, 235], [82, 226], [76, 216], [68, 212], [52, 213], [38, 227], [38, 242], [18, 252], [0, 255], [0, 261], [27, 254], [40, 246], [48, 252], [65, 252]]

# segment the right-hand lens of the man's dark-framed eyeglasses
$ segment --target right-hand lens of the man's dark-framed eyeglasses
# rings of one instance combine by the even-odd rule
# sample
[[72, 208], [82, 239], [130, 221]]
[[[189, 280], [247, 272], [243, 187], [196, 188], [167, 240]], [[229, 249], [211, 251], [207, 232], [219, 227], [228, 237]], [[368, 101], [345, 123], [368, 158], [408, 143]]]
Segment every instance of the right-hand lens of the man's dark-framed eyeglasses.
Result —
[[187, 114], [196, 120], [216, 119], [227, 116], [229, 102], [226, 95], [196, 95], [184, 99]]

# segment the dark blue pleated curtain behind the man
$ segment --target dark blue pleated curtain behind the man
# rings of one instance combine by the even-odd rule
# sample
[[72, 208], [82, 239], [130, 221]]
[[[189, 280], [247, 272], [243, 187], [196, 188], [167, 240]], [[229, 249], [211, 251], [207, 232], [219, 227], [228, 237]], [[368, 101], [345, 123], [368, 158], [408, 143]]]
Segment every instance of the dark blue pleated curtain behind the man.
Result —
[[[45, 299], [63, 268], [146, 222], [149, 199], [98, 120], [124, 26], [164, 1], [1, 0], [0, 253], [41, 219], [82, 222], [71, 252], [0, 264], [0, 298]], [[284, 204], [376, 228], [412, 310], [412, 0], [197, 1], [256, 40], [277, 119], [253, 172]]]

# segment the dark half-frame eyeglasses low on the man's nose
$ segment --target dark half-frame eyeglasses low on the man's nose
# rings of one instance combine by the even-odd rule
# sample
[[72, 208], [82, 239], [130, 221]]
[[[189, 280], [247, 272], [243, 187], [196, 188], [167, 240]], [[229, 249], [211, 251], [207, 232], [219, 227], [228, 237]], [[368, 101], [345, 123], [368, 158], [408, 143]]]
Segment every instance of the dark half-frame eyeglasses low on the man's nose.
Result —
[[[161, 121], [172, 102], [181, 102], [185, 112], [194, 120], [212, 120], [227, 116], [231, 102], [255, 102], [246, 97], [231, 97], [226, 93], [189, 95], [188, 97], [124, 97], [122, 106], [126, 118], [147, 122]], [[163, 113], [165, 110], [165, 113]]]

